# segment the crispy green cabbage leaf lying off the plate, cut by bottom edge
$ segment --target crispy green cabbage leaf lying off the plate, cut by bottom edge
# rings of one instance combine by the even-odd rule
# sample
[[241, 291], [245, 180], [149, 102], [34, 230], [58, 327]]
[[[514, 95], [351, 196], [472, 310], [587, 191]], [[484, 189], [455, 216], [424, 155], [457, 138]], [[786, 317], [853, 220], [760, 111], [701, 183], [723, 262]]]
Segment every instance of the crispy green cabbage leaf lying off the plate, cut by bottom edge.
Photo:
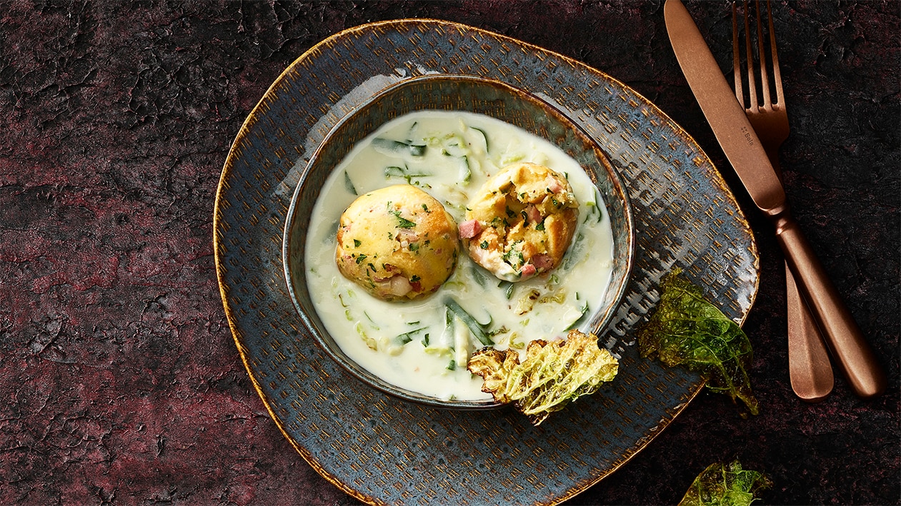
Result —
[[717, 462], [697, 475], [678, 506], [748, 506], [772, 485], [765, 474], [742, 469], [738, 460]]

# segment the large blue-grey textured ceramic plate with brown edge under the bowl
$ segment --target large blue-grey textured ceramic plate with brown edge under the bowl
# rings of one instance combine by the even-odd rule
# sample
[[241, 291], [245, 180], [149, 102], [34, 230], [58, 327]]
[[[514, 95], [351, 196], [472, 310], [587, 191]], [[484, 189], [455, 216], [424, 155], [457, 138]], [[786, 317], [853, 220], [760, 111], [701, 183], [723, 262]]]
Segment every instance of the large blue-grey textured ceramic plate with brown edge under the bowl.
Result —
[[[510, 409], [441, 410], [360, 383], [299, 320], [282, 234], [301, 174], [325, 135], [372, 95], [428, 74], [496, 79], [537, 95], [586, 131], [626, 186], [633, 273], [602, 343], [620, 372], [538, 428]], [[468, 26], [373, 23], [297, 59], [234, 140], [214, 210], [216, 268], [232, 334], [273, 420], [327, 480], [369, 503], [554, 504], [623, 465], [703, 382], [638, 356], [633, 329], [682, 267], [735, 321], [759, 281], [751, 230], [709, 158], [628, 86], [576, 60]]]

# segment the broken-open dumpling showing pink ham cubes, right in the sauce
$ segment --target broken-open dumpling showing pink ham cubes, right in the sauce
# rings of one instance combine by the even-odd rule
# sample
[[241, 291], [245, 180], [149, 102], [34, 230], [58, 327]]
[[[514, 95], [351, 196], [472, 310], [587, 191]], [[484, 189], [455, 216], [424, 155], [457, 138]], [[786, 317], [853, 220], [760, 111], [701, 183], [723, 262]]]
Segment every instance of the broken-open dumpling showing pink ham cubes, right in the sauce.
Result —
[[566, 177], [523, 162], [501, 169], [469, 201], [460, 238], [478, 265], [523, 281], [560, 265], [577, 224], [578, 201]]

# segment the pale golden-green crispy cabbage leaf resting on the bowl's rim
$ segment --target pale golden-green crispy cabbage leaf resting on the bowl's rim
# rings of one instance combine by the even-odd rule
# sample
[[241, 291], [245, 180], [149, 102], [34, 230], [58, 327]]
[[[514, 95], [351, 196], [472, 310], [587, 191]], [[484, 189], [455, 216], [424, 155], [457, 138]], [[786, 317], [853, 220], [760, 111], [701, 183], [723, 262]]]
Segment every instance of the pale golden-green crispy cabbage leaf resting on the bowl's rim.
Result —
[[514, 350], [483, 348], [469, 358], [469, 372], [482, 376], [482, 391], [513, 403], [538, 426], [554, 411], [614, 379], [619, 363], [597, 347], [593, 334], [570, 330], [567, 339], [534, 340], [520, 363]]

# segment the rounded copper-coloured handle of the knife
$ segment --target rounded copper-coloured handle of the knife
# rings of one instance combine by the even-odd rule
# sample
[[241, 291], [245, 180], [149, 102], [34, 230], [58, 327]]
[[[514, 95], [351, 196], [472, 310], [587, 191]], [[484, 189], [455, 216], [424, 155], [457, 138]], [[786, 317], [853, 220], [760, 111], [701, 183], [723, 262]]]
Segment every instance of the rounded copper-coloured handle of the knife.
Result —
[[804, 233], [786, 208], [771, 218], [788, 267], [851, 388], [860, 397], [882, 393], [886, 389], [886, 375]]

